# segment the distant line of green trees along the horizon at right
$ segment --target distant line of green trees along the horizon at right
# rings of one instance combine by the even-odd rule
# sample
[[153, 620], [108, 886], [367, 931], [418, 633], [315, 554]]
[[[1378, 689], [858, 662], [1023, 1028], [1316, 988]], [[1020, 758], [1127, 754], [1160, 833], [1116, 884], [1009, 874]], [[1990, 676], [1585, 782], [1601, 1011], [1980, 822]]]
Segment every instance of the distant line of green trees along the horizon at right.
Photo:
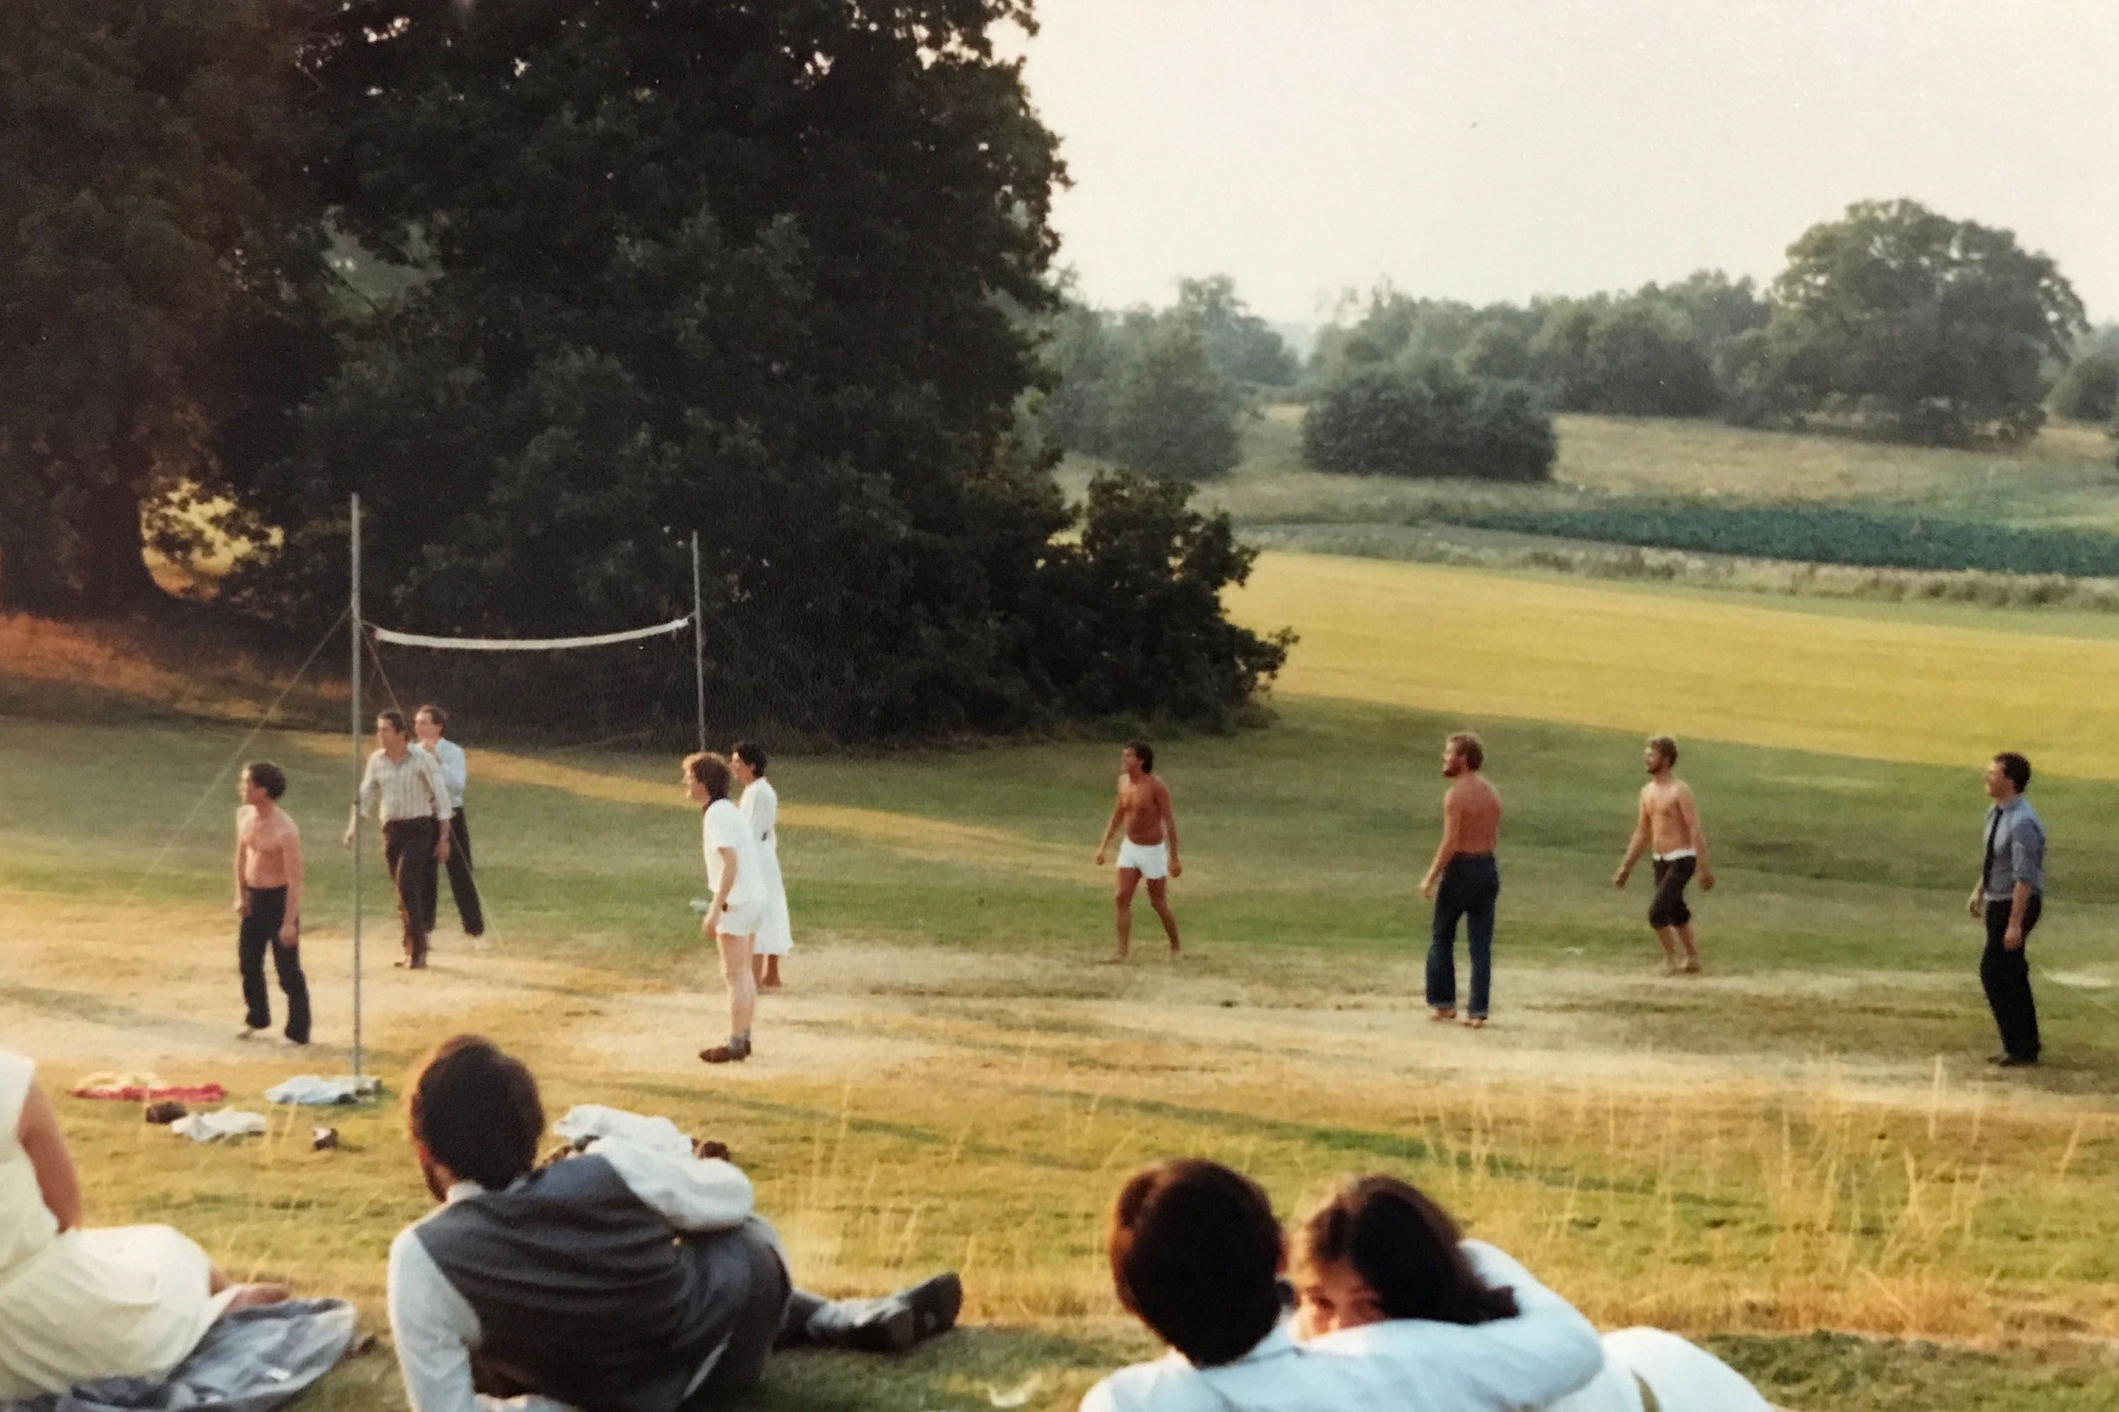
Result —
[[1168, 311], [1068, 309], [1047, 432], [1199, 478], [1235, 464], [1246, 396], [1295, 396], [1310, 406], [1314, 468], [1534, 481], [1553, 461], [1555, 411], [1924, 445], [2015, 442], [2049, 409], [2119, 413], [2119, 349], [2087, 341], [2058, 265], [2009, 231], [1916, 201], [1860, 201], [1814, 224], [1763, 290], [1721, 271], [1528, 305], [1384, 286], [1322, 330], [1301, 377], [1284, 345], [1278, 360], [1248, 351], [1242, 364], [1276, 377], [1240, 373], [1240, 320], [1252, 326], [1246, 347], [1271, 337], [1227, 279], [1185, 282]]

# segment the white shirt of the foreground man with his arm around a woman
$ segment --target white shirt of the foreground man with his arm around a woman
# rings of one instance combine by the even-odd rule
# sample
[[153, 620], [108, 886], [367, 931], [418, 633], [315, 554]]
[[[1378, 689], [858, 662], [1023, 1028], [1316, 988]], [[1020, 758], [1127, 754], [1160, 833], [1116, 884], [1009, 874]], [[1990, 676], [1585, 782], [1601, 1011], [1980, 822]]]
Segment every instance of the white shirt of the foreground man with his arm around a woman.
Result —
[[1515, 1319], [1388, 1319], [1297, 1344], [1276, 1327], [1233, 1363], [1195, 1368], [1182, 1353], [1110, 1374], [1081, 1412], [1521, 1412], [1604, 1368], [1604, 1346], [1574, 1306], [1492, 1245], [1464, 1253], [1488, 1285], [1515, 1291]]

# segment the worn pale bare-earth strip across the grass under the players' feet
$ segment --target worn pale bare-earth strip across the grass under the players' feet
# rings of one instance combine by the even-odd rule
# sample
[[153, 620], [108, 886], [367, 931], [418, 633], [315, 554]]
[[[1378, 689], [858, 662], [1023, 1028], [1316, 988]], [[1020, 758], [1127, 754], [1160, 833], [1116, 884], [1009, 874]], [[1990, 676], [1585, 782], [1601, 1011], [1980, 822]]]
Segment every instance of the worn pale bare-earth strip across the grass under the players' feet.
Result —
[[[233, 927], [216, 919], [13, 898], [0, 908], [0, 1042], [36, 1054], [64, 1078], [89, 1071], [157, 1073], [172, 1082], [299, 1071], [337, 1073], [350, 1061], [350, 946], [343, 934], [305, 938], [318, 1044], [307, 1052], [237, 1042], [242, 1020]], [[460, 1029], [534, 1033], [595, 1065], [627, 1073], [689, 1073], [693, 1052], [723, 1027], [708, 959], [642, 978], [602, 965], [532, 959], [506, 946], [475, 951], [449, 931], [432, 967], [390, 967], [394, 944], [371, 931], [362, 965], [364, 1048], [390, 1073]], [[1651, 1048], [1630, 1027], [1649, 986], [1689, 984], [1716, 997], [1814, 997], [1831, 1006], [1863, 993], [1935, 991], [1941, 976], [1816, 976], [1767, 972], [1661, 982], [1587, 967], [1526, 967], [1507, 976], [1496, 1022], [1468, 1033], [1430, 1025], [1418, 963], [1369, 965], [1360, 993], [1324, 961], [1290, 959], [1265, 972], [1250, 957], [1172, 965], [1144, 955], [1098, 967], [1089, 951], [973, 953], [856, 940], [805, 942], [793, 989], [761, 1001], [761, 1048], [729, 1082], [776, 1075], [869, 1078], [943, 1058], [1104, 1046], [1142, 1067], [1240, 1080], [1278, 1071], [1358, 1071], [1371, 1082], [1458, 1078], [1657, 1092], [1702, 1084], [1780, 1088], [1877, 1103], [1979, 1103], [1962, 1073], [1937, 1086], [1933, 1061], [1850, 1061], [1795, 1052], [1687, 1054]], [[278, 997], [275, 997], [278, 1008]], [[269, 1082], [269, 1078], [265, 1078]], [[2053, 1094], [2013, 1101], [2075, 1105]]]

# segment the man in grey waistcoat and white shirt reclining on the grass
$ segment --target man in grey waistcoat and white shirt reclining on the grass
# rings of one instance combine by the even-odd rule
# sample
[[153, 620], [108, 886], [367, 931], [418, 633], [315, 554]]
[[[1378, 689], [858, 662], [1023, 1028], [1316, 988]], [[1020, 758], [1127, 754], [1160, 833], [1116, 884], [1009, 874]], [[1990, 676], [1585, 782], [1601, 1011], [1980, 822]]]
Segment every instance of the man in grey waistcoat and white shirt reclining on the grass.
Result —
[[879, 1300], [795, 1289], [750, 1179], [718, 1158], [598, 1139], [536, 1166], [521, 1061], [458, 1035], [405, 1086], [437, 1211], [390, 1245], [390, 1334], [413, 1412], [676, 1412], [759, 1384], [773, 1348], [901, 1353], [956, 1325], [937, 1274]]

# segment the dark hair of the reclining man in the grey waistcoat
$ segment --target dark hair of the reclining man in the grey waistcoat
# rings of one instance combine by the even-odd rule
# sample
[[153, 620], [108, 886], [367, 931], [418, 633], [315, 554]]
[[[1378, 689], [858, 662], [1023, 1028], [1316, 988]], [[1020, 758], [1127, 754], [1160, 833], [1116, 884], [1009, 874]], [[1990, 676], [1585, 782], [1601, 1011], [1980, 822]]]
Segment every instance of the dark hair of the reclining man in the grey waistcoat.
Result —
[[498, 1192], [536, 1164], [545, 1103], [519, 1058], [481, 1035], [443, 1039], [405, 1082], [411, 1139], [456, 1177]]

